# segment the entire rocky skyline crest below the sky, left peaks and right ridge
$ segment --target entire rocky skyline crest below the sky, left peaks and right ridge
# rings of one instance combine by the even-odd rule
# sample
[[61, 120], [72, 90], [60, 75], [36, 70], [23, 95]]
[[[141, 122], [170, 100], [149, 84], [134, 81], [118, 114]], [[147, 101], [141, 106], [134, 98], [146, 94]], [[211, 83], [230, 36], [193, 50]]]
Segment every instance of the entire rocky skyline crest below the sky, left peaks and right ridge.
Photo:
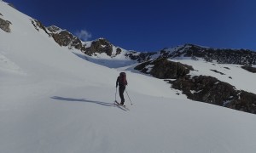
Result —
[[[44, 29], [44, 26], [42, 26], [42, 29]], [[49, 26], [47, 30], [60, 46], [79, 49], [89, 56], [104, 53], [114, 58], [123, 51], [119, 47], [114, 48], [115, 46], [104, 38], [99, 38], [91, 42], [83, 42], [71, 32], [61, 30], [57, 26]], [[208, 62], [217, 62], [218, 64], [244, 65], [243, 68], [247, 71], [256, 71], [256, 68], [251, 67], [252, 65], [256, 65], [256, 52], [247, 49], [206, 48], [194, 44], [185, 44], [176, 48], [164, 48], [159, 52], [126, 51], [125, 57], [137, 60], [139, 63], [157, 58], [190, 58], [194, 60], [201, 58]]]

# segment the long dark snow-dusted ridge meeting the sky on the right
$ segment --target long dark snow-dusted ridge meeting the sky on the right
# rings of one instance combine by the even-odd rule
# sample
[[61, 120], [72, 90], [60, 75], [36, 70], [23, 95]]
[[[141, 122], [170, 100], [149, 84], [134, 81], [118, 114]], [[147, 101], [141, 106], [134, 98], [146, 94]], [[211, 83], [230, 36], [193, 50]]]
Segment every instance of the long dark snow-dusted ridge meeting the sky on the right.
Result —
[[194, 44], [185, 44], [177, 48], [165, 48], [160, 56], [168, 59], [190, 57], [191, 59], [205, 59], [218, 64], [256, 65], [256, 52], [248, 49], [206, 48]]

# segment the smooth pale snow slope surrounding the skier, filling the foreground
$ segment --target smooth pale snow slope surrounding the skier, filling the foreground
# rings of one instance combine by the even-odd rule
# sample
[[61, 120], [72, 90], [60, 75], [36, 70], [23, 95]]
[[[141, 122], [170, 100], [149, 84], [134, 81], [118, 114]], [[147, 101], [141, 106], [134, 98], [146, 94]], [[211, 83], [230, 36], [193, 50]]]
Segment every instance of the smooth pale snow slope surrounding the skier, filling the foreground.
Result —
[[126, 89], [133, 105], [125, 94], [131, 111], [124, 111], [113, 105], [119, 70], [61, 48], [6, 3], [0, 13], [12, 22], [11, 33], [0, 30], [1, 152], [256, 150], [255, 115], [190, 101], [166, 82], [131, 71]]

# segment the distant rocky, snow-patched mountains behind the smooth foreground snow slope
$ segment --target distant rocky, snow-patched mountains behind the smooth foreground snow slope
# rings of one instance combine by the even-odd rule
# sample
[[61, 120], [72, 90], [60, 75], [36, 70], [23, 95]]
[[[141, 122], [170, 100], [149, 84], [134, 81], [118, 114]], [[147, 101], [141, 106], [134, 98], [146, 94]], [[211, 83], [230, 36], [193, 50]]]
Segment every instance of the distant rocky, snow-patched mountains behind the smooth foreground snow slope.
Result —
[[[255, 72], [256, 68], [253, 65], [256, 65], [256, 52], [245, 49], [207, 48], [185, 44], [176, 48], [165, 48], [155, 53], [141, 53], [116, 47], [104, 38], [82, 42], [78, 37], [73, 36], [72, 33], [61, 30], [61, 28], [56, 26], [50, 26], [48, 29], [52, 32], [51, 36], [55, 39], [55, 42], [60, 46], [66, 46], [69, 49], [79, 49], [84, 53], [84, 55], [79, 55], [82, 59], [87, 59], [109, 68], [126, 66], [127, 70], [131, 71], [133, 71], [134, 65], [142, 63], [137, 65], [135, 69], [160, 79], [176, 79], [170, 82], [172, 88], [181, 90], [189, 99], [256, 114], [255, 88], [248, 88], [252, 87], [250, 85], [251, 82], [248, 84], [242, 83], [242, 85], [240, 85], [241, 83], [237, 84], [237, 81], [233, 81], [233, 78], [236, 80], [236, 74], [235, 76], [230, 74], [229, 77], [226, 77], [229, 78], [228, 80], [218, 79], [219, 75], [226, 75], [222, 71], [234, 71], [234, 69], [224, 66], [225, 70], [221, 70], [219, 67], [212, 67], [206, 64], [206, 62], [209, 62], [212, 65], [241, 65], [239, 70], [241, 73], [248, 73], [243, 72], [244, 70]], [[186, 63], [186, 65], [181, 64], [180, 61], [184, 61], [184, 59], [188, 59], [189, 63]], [[179, 62], [177, 63], [177, 61]], [[193, 67], [198, 63], [201, 63], [203, 67], [209, 67], [208, 71], [213, 71], [218, 76], [206, 71], [196, 75], [189, 74], [189, 70], [201, 71], [204, 69], [203, 67], [198, 67], [195, 70]], [[209, 77], [198, 77], [201, 75]], [[253, 80], [253, 77], [255, 77], [252, 74], [246, 76], [242, 78]], [[197, 81], [195, 82], [195, 80]], [[241, 78], [239, 78], [238, 82], [241, 81]], [[187, 84], [185, 88], [183, 84]], [[241, 86], [242, 88], [240, 88]], [[236, 87], [239, 89], [236, 89]]]

